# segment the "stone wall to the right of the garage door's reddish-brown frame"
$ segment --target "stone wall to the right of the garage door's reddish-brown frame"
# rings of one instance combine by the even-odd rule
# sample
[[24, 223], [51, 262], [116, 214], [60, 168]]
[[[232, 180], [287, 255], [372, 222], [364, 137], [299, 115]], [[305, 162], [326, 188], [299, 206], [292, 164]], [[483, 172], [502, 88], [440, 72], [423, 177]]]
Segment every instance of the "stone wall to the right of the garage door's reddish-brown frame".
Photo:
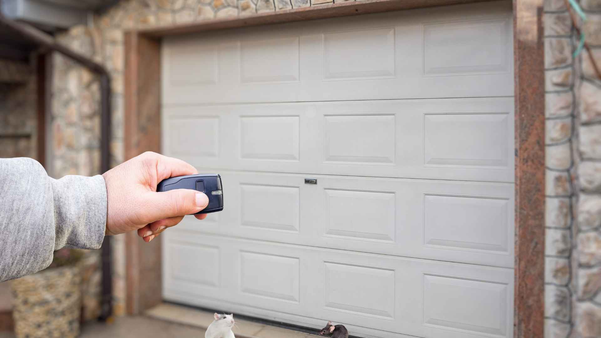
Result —
[[[601, 1], [582, 0], [601, 66]], [[545, 336], [601, 337], [601, 79], [564, 0], [545, 1]]]

